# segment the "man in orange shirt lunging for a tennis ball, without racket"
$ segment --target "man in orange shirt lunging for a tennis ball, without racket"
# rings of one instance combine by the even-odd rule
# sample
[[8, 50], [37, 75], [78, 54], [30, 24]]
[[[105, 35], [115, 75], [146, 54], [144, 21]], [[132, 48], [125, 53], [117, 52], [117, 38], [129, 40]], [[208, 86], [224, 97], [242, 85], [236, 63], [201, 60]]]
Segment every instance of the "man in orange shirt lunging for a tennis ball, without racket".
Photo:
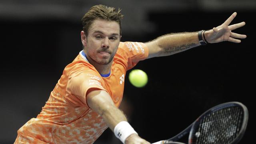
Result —
[[92, 144], [110, 128], [125, 144], [149, 144], [140, 138], [118, 109], [126, 71], [140, 60], [169, 56], [206, 43], [246, 35], [232, 32], [245, 22], [232, 22], [234, 12], [211, 30], [160, 36], [150, 42], [120, 42], [120, 9], [96, 5], [82, 18], [84, 49], [66, 66], [48, 101], [36, 118], [18, 130], [15, 144]]

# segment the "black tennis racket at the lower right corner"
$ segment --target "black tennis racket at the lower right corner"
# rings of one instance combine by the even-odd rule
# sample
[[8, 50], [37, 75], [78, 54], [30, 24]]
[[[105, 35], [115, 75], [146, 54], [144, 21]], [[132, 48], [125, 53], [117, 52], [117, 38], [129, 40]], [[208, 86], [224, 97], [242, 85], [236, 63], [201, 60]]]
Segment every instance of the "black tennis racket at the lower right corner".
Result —
[[152, 144], [237, 144], [243, 137], [248, 122], [248, 110], [240, 102], [214, 106], [199, 116], [188, 128], [168, 139]]

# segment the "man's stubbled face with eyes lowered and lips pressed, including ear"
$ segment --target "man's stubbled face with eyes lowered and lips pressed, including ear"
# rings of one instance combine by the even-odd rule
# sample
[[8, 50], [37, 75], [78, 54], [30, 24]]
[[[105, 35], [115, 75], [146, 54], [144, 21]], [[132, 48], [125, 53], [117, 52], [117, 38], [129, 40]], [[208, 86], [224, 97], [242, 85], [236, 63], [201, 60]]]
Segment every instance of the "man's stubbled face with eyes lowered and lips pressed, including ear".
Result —
[[120, 42], [119, 24], [115, 21], [96, 19], [89, 27], [87, 37], [84, 34], [84, 38], [82, 43], [89, 62], [109, 64]]

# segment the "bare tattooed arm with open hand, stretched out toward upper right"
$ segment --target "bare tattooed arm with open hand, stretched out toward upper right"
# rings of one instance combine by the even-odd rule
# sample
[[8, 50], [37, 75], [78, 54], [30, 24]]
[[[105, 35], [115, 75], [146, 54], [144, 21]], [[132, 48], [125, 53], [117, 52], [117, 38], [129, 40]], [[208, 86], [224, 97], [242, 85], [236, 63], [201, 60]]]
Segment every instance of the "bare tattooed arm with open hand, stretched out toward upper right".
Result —
[[[200, 34], [202, 40], [206, 43], [217, 43], [223, 41], [240, 43], [241, 40], [237, 38], [246, 38], [246, 35], [234, 33], [232, 30], [244, 26], [245, 22], [229, 26], [235, 17], [236, 12], [234, 12], [222, 25], [202, 32]], [[160, 36], [151, 42], [146, 42], [146, 45], [149, 48], [148, 58], [153, 58], [176, 54], [178, 52], [200, 46], [201, 44], [199, 42], [198, 32], [183, 32]]]

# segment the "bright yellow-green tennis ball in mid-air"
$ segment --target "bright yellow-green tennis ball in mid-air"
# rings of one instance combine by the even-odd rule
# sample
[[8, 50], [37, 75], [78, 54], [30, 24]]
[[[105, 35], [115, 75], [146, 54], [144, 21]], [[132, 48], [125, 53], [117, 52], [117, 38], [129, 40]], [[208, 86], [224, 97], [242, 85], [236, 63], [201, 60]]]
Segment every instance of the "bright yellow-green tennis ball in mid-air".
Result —
[[146, 72], [142, 70], [132, 70], [129, 74], [129, 80], [132, 83], [132, 85], [141, 88], [145, 86], [148, 82], [148, 76]]

